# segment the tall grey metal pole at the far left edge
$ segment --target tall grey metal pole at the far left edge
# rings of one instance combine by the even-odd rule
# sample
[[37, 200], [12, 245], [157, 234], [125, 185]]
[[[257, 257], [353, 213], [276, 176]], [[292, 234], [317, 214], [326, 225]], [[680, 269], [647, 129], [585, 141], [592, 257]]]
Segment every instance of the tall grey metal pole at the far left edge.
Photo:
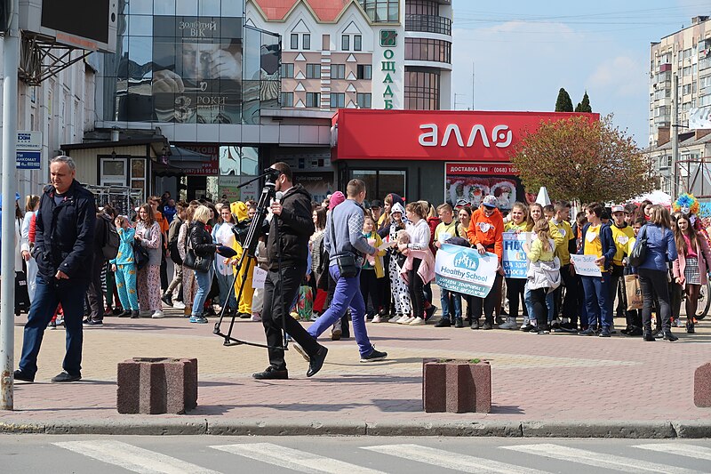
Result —
[[20, 67], [20, 1], [12, 4], [10, 28], [3, 37], [3, 244], [0, 285], [0, 410], [12, 410], [15, 328], [15, 162], [17, 155], [17, 77]]

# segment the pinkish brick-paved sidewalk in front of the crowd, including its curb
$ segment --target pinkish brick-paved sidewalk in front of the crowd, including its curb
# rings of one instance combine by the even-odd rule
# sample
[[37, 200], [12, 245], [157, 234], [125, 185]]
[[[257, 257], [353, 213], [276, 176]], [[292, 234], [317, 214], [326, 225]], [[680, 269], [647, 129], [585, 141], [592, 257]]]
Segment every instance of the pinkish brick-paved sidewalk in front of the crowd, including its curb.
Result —
[[[382, 434], [473, 430], [520, 436], [527, 427], [557, 436], [595, 430], [596, 436], [681, 436], [682, 423], [691, 427], [687, 434], [693, 429], [711, 437], [711, 409], [693, 405], [693, 372], [711, 362], [707, 320], [696, 334], [676, 329], [680, 339], [674, 343], [619, 334], [602, 339], [368, 323], [371, 341], [388, 353], [386, 361], [361, 364], [352, 338], [323, 338], [329, 356], [314, 378], [306, 377], [308, 364], [290, 350], [291, 379], [260, 382], [251, 374], [268, 366], [266, 349], [223, 347], [212, 334], [215, 318], [195, 325], [177, 313], [169, 309], [164, 319], [107, 317], [103, 327], [86, 328], [84, 380], [71, 384], [49, 382], [61, 370], [65, 335], [62, 328], [47, 330], [36, 382], [15, 384], [15, 412], [0, 414], [0, 431], [358, 434], [387, 427]], [[24, 322], [16, 318], [16, 366]], [[234, 335], [264, 341], [261, 323], [249, 320], [237, 320]], [[196, 410], [180, 416], [118, 414], [116, 364], [134, 357], [197, 358]], [[421, 360], [432, 357], [489, 360], [491, 414], [424, 413]]]

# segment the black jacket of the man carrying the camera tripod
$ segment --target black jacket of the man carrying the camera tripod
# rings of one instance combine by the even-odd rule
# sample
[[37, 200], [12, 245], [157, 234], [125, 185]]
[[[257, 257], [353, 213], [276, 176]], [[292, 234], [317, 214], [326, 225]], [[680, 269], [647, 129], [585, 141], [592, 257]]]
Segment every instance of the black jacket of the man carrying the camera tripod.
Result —
[[[282, 247], [282, 265], [303, 265], [308, 261], [308, 238], [316, 228], [311, 217], [311, 195], [300, 184], [289, 189], [282, 197], [282, 215], [272, 219], [269, 224], [267, 253], [269, 269], [278, 266], [278, 248], [276, 245], [276, 221], [279, 221], [279, 237]], [[276, 216], [275, 216], [276, 217]]]

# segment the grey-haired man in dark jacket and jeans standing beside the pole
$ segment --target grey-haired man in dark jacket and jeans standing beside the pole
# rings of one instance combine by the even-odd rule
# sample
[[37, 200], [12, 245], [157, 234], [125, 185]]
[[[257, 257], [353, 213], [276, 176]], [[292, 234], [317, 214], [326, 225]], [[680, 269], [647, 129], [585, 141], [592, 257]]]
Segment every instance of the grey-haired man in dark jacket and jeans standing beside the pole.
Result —
[[52, 158], [52, 184], [44, 189], [36, 218], [32, 254], [37, 261], [37, 286], [25, 325], [20, 369], [14, 374], [17, 381], [35, 382], [44, 329], [58, 304], [64, 310], [67, 353], [62, 363], [64, 370], [52, 382], [76, 382], [82, 378], [82, 316], [92, 274], [96, 205], [92, 193], [74, 179], [75, 174], [70, 157]]

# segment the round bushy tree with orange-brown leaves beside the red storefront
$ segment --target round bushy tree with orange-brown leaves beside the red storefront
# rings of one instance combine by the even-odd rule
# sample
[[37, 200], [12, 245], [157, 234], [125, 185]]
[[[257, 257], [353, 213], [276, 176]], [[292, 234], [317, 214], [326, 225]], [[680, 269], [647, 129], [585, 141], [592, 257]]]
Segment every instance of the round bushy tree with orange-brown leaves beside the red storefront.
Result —
[[651, 163], [611, 115], [541, 121], [510, 157], [523, 186], [545, 186], [552, 199], [622, 203], [654, 189]]

